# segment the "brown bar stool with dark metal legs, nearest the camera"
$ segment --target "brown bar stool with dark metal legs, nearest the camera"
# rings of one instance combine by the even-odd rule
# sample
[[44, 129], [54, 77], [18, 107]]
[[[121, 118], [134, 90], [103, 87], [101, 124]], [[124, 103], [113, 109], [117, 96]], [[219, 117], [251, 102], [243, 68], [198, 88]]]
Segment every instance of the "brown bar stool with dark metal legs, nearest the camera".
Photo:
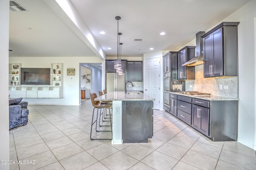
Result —
[[[101, 103], [100, 101], [94, 101], [95, 98], [97, 98], [97, 94], [95, 92], [90, 93], [91, 96], [91, 101], [92, 101], [92, 106], [94, 107], [93, 112], [92, 112], [92, 125], [94, 125], [96, 123], [96, 132], [111, 132], [111, 139], [98, 139], [98, 138], [92, 138], [92, 125], [91, 125], [91, 133], [90, 133], [90, 139], [91, 140], [112, 140], [112, 120], [111, 120], [111, 114], [109, 115], [110, 117], [110, 125], [101, 125], [101, 126], [110, 126], [111, 130], [110, 131], [103, 131], [103, 130], [97, 130], [97, 122], [98, 122], [98, 113], [99, 113], [99, 109], [100, 109], [100, 115], [103, 114], [103, 112], [109, 111], [110, 113], [110, 108], [112, 107], [112, 104], [105, 104], [105, 103]], [[94, 110], [97, 109], [97, 116], [96, 116], [96, 120], [94, 120]], [[101, 109], [103, 109], [104, 111], [101, 112]], [[100, 124], [100, 119], [99, 119], [99, 124]]]

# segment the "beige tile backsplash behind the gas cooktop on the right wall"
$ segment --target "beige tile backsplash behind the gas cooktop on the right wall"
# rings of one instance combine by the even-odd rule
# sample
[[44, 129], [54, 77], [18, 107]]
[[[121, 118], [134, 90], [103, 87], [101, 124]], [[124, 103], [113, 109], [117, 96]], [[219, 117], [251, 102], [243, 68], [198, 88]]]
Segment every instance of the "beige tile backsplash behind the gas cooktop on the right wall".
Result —
[[[238, 77], [204, 78], [204, 65], [196, 67], [196, 79], [186, 80], [186, 91], [210, 93], [213, 96], [238, 98]], [[222, 90], [220, 89], [222, 85]], [[224, 89], [228, 86], [228, 89]]]

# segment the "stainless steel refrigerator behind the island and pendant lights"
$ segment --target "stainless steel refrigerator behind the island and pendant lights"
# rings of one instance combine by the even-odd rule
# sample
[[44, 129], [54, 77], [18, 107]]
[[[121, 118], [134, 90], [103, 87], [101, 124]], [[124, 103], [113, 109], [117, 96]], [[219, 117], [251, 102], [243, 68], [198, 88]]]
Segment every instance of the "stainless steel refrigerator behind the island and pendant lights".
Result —
[[107, 92], [124, 91], [124, 86], [125, 86], [125, 73], [123, 73], [123, 75], [119, 75], [118, 73], [115, 73], [115, 72], [106, 73]]

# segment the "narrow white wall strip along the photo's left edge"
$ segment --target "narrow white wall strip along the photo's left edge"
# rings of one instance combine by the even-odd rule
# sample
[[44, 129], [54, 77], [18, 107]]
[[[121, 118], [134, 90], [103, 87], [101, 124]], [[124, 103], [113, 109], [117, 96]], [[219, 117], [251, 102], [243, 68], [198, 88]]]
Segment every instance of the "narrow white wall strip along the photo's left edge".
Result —
[[[0, 160], [9, 160], [9, 104], [8, 104], [8, 58], [9, 58], [9, 1], [0, 0]], [[0, 170], [8, 170], [8, 164], [0, 164]]]

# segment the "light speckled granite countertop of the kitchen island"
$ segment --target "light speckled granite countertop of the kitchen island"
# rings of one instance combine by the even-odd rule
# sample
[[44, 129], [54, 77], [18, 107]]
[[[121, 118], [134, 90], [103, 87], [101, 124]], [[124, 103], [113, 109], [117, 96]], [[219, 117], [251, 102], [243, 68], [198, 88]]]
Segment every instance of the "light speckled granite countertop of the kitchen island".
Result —
[[[134, 93], [134, 92], [132, 92]], [[138, 94], [128, 94], [124, 92], [108, 92], [94, 100], [98, 101], [152, 101], [155, 99], [150, 98], [141, 92], [136, 92]]]

